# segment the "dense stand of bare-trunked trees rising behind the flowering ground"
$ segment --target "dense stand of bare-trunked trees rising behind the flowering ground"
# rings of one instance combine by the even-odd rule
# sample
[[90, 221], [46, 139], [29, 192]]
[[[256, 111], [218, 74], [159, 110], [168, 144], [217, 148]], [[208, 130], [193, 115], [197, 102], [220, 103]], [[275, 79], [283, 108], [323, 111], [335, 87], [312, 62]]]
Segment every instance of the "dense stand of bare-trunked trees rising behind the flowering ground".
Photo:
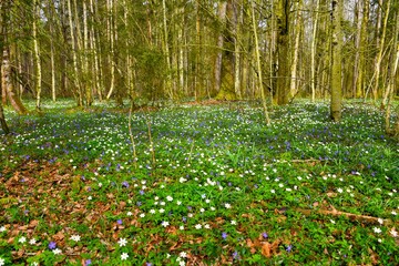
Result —
[[[392, 0], [3, 0], [2, 104], [397, 93]], [[389, 106], [388, 106], [389, 108]]]

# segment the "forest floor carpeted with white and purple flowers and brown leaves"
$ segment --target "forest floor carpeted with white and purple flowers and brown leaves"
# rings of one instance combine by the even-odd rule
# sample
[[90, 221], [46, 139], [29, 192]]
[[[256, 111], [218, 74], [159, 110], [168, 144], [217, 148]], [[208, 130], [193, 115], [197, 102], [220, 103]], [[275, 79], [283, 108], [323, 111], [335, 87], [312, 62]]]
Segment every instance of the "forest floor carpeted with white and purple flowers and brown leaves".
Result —
[[[398, 265], [399, 145], [346, 102], [6, 109], [0, 265]], [[134, 145], [132, 143], [134, 140]], [[133, 153], [136, 153], [136, 158]]]

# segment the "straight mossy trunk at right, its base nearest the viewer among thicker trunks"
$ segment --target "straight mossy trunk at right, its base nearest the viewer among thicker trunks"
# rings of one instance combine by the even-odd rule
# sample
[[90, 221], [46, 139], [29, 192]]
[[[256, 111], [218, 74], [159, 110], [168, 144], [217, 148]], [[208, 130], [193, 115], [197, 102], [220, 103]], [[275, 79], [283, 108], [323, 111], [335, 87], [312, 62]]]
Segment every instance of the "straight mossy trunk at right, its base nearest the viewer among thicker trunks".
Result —
[[330, 116], [335, 122], [341, 119], [341, 48], [342, 48], [342, 32], [341, 32], [341, 16], [344, 0], [331, 0], [331, 104]]

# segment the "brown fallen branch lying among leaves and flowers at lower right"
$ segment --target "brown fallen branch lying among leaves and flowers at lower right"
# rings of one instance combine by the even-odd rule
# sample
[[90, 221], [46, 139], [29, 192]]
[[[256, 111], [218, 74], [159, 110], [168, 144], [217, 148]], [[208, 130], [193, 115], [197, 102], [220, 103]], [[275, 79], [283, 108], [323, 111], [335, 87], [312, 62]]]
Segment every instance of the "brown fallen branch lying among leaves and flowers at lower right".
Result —
[[351, 221], [366, 222], [366, 223], [370, 223], [370, 224], [380, 224], [380, 222], [382, 222], [383, 225], [398, 224], [391, 219], [381, 219], [381, 218], [368, 216], [368, 215], [346, 213], [346, 212], [337, 211], [334, 206], [330, 206], [330, 207], [331, 207], [331, 211], [329, 211], [329, 209], [305, 209], [305, 208], [296, 208], [295, 211], [297, 211], [306, 216], [310, 216], [311, 214], [323, 214], [323, 215], [332, 215], [332, 216], [341, 216], [342, 215], [342, 216], [348, 217]]

